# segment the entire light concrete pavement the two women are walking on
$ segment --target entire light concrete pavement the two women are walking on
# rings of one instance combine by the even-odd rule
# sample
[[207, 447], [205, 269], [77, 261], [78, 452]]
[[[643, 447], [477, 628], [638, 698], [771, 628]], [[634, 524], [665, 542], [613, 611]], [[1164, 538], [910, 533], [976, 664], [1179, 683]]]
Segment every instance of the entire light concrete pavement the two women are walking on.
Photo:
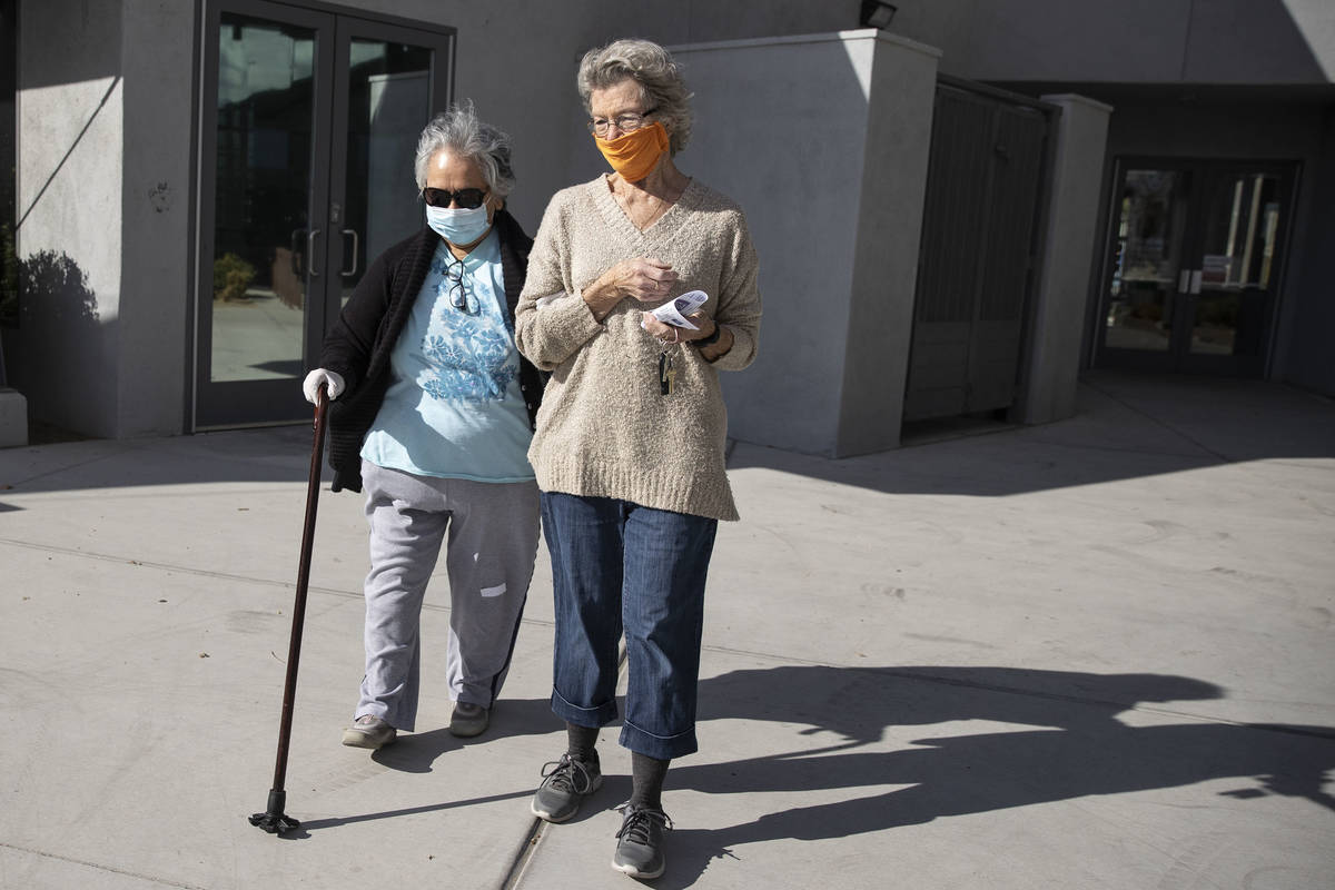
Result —
[[[360, 498], [320, 499], [291, 759], [263, 810], [308, 428], [0, 450], [0, 887], [627, 887], [615, 729], [570, 823], [529, 814], [538, 555], [483, 737], [339, 745]], [[1335, 406], [1092, 376], [1080, 415], [829, 462], [740, 444], [701, 751], [658, 887], [1335, 887]]]

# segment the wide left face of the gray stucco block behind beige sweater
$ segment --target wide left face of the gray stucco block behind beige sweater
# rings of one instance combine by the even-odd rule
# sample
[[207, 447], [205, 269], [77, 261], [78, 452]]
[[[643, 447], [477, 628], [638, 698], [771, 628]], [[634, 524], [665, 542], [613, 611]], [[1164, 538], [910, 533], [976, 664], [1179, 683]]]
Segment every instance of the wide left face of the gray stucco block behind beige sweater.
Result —
[[722, 375], [729, 435], [746, 442], [837, 444], [872, 64], [860, 43], [849, 52], [825, 33], [673, 47], [696, 91], [678, 167], [742, 205], [760, 255], [760, 356]]

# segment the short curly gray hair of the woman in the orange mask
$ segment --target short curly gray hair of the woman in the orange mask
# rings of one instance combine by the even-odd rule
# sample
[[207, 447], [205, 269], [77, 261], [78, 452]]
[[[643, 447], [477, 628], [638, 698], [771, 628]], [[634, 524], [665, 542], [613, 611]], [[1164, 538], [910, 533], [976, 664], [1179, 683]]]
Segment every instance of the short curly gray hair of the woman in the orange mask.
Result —
[[643, 93], [645, 108], [654, 109], [654, 120], [668, 128], [673, 155], [690, 141], [690, 97], [681, 68], [666, 49], [650, 40], [623, 39], [590, 49], [579, 60], [579, 97], [591, 113], [594, 89], [615, 87], [634, 80]]

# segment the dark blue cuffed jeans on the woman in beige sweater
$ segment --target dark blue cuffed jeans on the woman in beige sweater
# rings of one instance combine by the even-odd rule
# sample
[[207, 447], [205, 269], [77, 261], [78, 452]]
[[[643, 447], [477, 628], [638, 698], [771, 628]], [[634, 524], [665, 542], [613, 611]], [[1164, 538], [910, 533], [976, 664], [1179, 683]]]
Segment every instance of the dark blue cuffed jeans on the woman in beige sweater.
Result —
[[705, 574], [717, 519], [629, 500], [542, 492], [557, 643], [551, 710], [578, 726], [617, 719], [617, 642], [626, 636], [621, 743], [662, 761], [698, 749], [696, 686]]

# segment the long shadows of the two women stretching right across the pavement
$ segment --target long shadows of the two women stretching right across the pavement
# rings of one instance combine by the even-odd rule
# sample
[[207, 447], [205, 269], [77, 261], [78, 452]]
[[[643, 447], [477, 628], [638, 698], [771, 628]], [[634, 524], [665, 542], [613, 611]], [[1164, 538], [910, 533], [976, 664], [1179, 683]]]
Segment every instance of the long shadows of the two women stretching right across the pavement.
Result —
[[[669, 791], [750, 795], [758, 806], [773, 797], [757, 793], [842, 789], [848, 797], [761, 810], [753, 821], [717, 830], [677, 830], [672, 866], [655, 886], [690, 886], [713, 859], [741, 858], [738, 847], [749, 843], [842, 838], [940, 817], [1211, 779], [1238, 779], [1222, 793], [1234, 799], [1278, 794], [1335, 810], [1335, 798], [1323, 789], [1335, 769], [1335, 727], [1211, 723], [1167, 707], [1141, 709], [1155, 715], [1151, 726], [1117, 719], [1137, 702], [1222, 695], [1210, 683], [1183, 677], [987, 667], [798, 666], [704, 681], [702, 719], [800, 722], [813, 727], [806, 734], [830, 734], [830, 743], [725, 763], [682, 761], [668, 774]], [[955, 721], [1035, 729], [980, 727], [913, 738], [910, 747], [892, 751], [864, 750], [892, 727]]]

